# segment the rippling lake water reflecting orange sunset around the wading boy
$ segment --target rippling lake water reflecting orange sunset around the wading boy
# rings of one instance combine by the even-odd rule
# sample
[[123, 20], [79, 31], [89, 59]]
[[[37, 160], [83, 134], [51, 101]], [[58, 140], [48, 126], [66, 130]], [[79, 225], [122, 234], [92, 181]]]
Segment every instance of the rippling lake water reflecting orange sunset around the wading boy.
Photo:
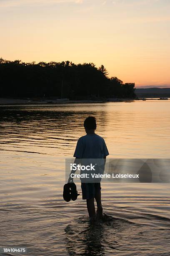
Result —
[[[65, 158], [97, 119], [109, 158], [170, 158], [170, 100], [0, 106], [0, 247], [27, 255], [170, 255], [170, 184], [103, 183], [105, 219], [62, 198]], [[77, 184], [78, 191], [80, 185]]]

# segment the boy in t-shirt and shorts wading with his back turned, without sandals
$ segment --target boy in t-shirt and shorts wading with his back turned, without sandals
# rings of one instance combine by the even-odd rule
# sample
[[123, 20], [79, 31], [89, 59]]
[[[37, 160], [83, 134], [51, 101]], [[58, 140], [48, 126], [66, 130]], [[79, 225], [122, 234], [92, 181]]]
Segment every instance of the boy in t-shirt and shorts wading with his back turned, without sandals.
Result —
[[[107, 146], [102, 137], [95, 133], [96, 120], [94, 117], [89, 116], [84, 121], [84, 128], [87, 135], [82, 136], [77, 141], [75, 148], [75, 163], [79, 164], [80, 159], [104, 159], [109, 155]], [[75, 173], [72, 171], [71, 173]], [[73, 182], [73, 179], [69, 178], [68, 182]], [[97, 215], [102, 216], [102, 202], [101, 202], [101, 187], [100, 183], [81, 183], [82, 199], [87, 201], [87, 210], [89, 217], [95, 216], [95, 204], [97, 203]]]

